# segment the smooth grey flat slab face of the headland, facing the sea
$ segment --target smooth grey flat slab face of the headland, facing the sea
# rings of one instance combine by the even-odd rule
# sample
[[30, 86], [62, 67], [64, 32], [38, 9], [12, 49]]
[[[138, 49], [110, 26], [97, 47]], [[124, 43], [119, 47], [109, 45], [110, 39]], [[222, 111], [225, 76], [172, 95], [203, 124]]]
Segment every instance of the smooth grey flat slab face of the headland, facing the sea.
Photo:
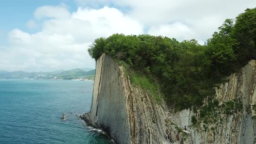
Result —
[[121, 71], [105, 54], [96, 62], [91, 111], [84, 117], [88, 125], [102, 128], [117, 143], [130, 143], [131, 131]]

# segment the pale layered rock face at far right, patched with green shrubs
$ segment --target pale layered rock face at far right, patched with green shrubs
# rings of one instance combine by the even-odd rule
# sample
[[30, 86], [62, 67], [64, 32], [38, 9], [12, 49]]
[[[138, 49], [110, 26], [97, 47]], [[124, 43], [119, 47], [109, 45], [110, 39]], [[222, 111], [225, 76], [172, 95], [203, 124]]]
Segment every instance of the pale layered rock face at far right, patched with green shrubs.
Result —
[[[188, 128], [196, 144], [256, 144], [256, 61], [251, 60], [240, 72], [230, 75], [229, 81], [216, 88], [220, 105], [223, 101], [240, 100], [242, 111], [232, 115], [222, 114], [223, 121], [206, 124], [207, 131], [201, 128]], [[171, 117], [179, 125], [191, 125], [193, 111], [184, 110]], [[213, 131], [210, 128], [215, 128]]]

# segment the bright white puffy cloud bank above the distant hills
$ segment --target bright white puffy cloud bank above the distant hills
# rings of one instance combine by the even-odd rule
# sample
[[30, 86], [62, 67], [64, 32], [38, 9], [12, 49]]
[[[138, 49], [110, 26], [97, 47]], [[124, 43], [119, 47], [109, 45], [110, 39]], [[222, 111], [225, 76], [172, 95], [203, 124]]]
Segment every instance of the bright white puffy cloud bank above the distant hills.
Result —
[[40, 32], [10, 31], [9, 48], [0, 49], [0, 69], [49, 71], [93, 68], [95, 60], [87, 49], [94, 39], [113, 33], [143, 33], [143, 26], [138, 21], [109, 7], [78, 8], [76, 12], [69, 13], [63, 7], [44, 6], [35, 10], [35, 18], [43, 20]]

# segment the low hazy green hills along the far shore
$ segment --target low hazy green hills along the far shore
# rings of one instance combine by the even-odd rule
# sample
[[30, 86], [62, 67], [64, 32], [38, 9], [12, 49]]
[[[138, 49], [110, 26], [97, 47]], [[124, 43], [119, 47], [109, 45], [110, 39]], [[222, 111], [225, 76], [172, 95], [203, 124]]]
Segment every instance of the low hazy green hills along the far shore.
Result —
[[[87, 69], [89, 71], [86, 71]], [[71, 69], [71, 70], [57, 70], [53, 72], [23, 72], [23, 71], [0, 71], [0, 79], [80, 79], [93, 80], [95, 69]]]

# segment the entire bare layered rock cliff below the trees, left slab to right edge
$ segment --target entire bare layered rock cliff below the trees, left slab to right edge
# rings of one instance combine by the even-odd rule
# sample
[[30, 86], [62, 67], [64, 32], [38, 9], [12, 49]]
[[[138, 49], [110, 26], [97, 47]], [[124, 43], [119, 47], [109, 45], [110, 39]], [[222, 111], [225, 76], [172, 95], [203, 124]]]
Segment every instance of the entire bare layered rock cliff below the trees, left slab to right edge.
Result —
[[[131, 84], [123, 66], [103, 54], [96, 62], [91, 110], [80, 118], [87, 126], [102, 128], [117, 144], [253, 144], [255, 74], [256, 61], [252, 60], [216, 88], [219, 105], [236, 99], [243, 104], [242, 110], [229, 115], [218, 112], [216, 122], [193, 125], [191, 117], [199, 119], [200, 110], [174, 113], [161, 96], [156, 102], [151, 92]], [[182, 131], [185, 125], [187, 134]]]

